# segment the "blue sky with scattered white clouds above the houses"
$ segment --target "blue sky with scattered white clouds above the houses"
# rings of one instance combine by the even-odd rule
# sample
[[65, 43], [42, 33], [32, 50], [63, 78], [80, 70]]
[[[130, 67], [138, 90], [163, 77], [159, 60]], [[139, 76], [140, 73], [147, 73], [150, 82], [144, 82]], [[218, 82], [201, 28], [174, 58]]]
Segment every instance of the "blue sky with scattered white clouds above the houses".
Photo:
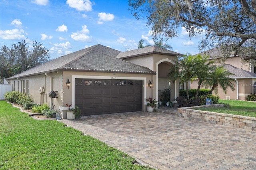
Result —
[[[146, 20], [136, 20], [128, 0], [0, 0], [0, 46], [26, 39], [43, 43], [50, 58], [102, 44], [119, 51], [137, 49], [140, 39], [154, 45]], [[202, 37], [168, 40], [172, 51], [196, 54]]]

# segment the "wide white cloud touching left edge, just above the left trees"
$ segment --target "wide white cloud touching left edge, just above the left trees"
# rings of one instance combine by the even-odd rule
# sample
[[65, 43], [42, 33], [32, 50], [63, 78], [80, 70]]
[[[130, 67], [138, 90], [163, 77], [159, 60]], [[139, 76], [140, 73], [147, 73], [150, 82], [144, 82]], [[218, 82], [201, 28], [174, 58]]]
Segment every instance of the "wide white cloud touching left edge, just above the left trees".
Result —
[[24, 30], [12, 29], [12, 30], [0, 30], [0, 38], [4, 40], [25, 40], [26, 34]]

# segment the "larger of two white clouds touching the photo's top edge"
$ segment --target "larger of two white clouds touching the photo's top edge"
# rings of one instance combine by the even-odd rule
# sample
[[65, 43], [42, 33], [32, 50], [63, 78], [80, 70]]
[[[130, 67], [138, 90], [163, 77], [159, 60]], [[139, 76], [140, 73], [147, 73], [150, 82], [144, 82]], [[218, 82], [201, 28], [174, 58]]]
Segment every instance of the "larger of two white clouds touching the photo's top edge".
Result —
[[92, 11], [93, 5], [90, 0], [67, 0], [66, 4], [78, 11]]

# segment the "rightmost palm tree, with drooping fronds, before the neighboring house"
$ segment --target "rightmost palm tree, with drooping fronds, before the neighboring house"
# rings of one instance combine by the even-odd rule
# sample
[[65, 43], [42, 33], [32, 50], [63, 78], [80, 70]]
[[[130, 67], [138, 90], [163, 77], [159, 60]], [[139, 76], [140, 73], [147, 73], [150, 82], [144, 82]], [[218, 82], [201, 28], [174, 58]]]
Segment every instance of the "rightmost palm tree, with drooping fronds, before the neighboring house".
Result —
[[230, 73], [227, 69], [224, 69], [224, 67], [216, 67], [214, 71], [211, 72], [210, 77], [202, 83], [206, 88], [211, 88], [204, 98], [212, 93], [212, 91], [218, 93], [218, 87], [222, 88], [225, 94], [227, 93], [228, 88], [234, 91], [235, 85], [233, 82], [235, 82], [235, 80], [230, 78], [230, 75], [234, 74]]

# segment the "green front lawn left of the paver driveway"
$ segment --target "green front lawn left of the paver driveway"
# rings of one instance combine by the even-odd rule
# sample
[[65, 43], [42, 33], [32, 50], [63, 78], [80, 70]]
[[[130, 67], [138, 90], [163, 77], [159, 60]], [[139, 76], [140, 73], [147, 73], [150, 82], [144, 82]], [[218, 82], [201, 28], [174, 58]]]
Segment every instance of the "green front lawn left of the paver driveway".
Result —
[[127, 154], [55, 120], [0, 101], [0, 169], [149, 170]]

